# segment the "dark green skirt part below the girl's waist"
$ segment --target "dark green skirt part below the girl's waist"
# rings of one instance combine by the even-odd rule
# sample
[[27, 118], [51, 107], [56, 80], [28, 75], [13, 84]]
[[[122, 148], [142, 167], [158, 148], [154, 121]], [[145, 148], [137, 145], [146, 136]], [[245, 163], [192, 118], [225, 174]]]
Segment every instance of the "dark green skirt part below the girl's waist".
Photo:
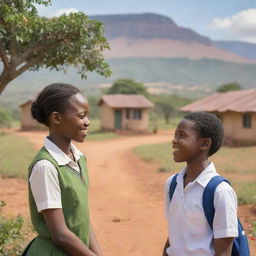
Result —
[[37, 236], [29, 243], [22, 256], [68, 256], [68, 254], [52, 240]]

